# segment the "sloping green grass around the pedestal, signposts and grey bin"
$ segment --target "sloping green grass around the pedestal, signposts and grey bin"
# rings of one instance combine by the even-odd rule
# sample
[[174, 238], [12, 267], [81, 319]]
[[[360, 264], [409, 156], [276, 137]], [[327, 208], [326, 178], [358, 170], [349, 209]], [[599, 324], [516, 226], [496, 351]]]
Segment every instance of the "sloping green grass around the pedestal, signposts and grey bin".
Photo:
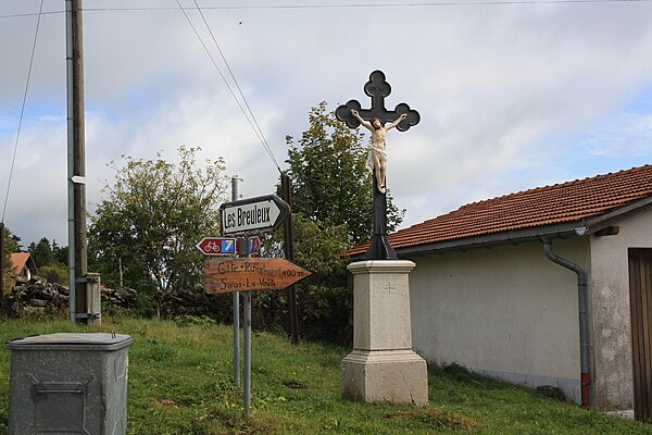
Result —
[[[339, 364], [349, 349], [266, 333], [252, 339], [252, 409], [233, 383], [233, 332], [190, 319], [104, 320], [129, 334], [128, 434], [652, 434], [652, 425], [557, 402], [459, 366], [430, 368], [422, 408], [349, 402]], [[79, 331], [66, 321], [0, 321], [3, 341]], [[7, 433], [10, 352], [0, 350], [0, 434]]]

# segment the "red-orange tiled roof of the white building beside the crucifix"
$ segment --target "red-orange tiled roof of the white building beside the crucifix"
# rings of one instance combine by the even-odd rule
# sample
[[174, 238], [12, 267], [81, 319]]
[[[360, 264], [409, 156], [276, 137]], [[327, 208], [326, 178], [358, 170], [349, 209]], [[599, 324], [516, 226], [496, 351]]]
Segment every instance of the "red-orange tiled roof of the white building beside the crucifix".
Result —
[[[473, 202], [388, 236], [394, 249], [577, 222], [652, 196], [652, 165]], [[348, 253], [363, 253], [359, 246]]]

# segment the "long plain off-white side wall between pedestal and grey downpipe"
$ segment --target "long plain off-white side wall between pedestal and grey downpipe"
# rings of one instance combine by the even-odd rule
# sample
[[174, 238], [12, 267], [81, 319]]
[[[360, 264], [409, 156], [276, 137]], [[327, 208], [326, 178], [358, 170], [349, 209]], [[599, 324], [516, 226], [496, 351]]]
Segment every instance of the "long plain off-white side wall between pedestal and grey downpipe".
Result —
[[[553, 251], [586, 268], [588, 245], [555, 240]], [[580, 400], [577, 278], [540, 243], [410, 259], [413, 345], [427, 361]]]

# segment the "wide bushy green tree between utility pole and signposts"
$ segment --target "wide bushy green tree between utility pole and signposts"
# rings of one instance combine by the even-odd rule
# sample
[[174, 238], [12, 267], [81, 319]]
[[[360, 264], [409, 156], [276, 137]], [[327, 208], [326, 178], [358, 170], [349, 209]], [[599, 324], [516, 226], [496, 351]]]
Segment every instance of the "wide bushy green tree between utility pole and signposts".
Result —
[[[123, 156], [116, 178], [89, 225], [89, 270], [102, 281], [145, 291], [193, 290], [202, 254], [195, 247], [218, 228], [223, 159], [199, 167], [199, 148], [180, 147], [178, 163]], [[123, 282], [124, 279], [124, 282]]]

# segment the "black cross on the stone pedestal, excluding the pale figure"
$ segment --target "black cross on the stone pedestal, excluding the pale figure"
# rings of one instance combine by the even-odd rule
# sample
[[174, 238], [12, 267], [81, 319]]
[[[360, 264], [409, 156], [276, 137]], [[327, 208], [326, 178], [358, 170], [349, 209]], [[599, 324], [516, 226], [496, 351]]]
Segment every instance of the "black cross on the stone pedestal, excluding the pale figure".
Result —
[[[358, 128], [360, 126], [360, 121], [353, 116], [352, 110], [358, 111], [364, 121], [378, 119], [383, 123], [393, 123], [402, 114], [405, 114], [405, 119], [396, 126], [400, 132], [408, 130], [421, 121], [418, 112], [410, 109], [410, 105], [404, 102], [398, 104], [394, 110], [385, 108], [385, 98], [391, 94], [391, 86], [385, 79], [381, 71], [376, 70], [369, 74], [369, 80], [364, 85], [364, 92], [372, 98], [371, 109], [362, 109], [358, 100], [349, 100], [335, 110], [336, 117], [349, 127]], [[365, 260], [396, 260], [397, 253], [387, 240], [387, 194], [385, 187], [383, 187], [383, 191], [378, 189], [377, 177], [372, 176], [372, 178], [374, 179], [374, 238], [364, 258]]]

